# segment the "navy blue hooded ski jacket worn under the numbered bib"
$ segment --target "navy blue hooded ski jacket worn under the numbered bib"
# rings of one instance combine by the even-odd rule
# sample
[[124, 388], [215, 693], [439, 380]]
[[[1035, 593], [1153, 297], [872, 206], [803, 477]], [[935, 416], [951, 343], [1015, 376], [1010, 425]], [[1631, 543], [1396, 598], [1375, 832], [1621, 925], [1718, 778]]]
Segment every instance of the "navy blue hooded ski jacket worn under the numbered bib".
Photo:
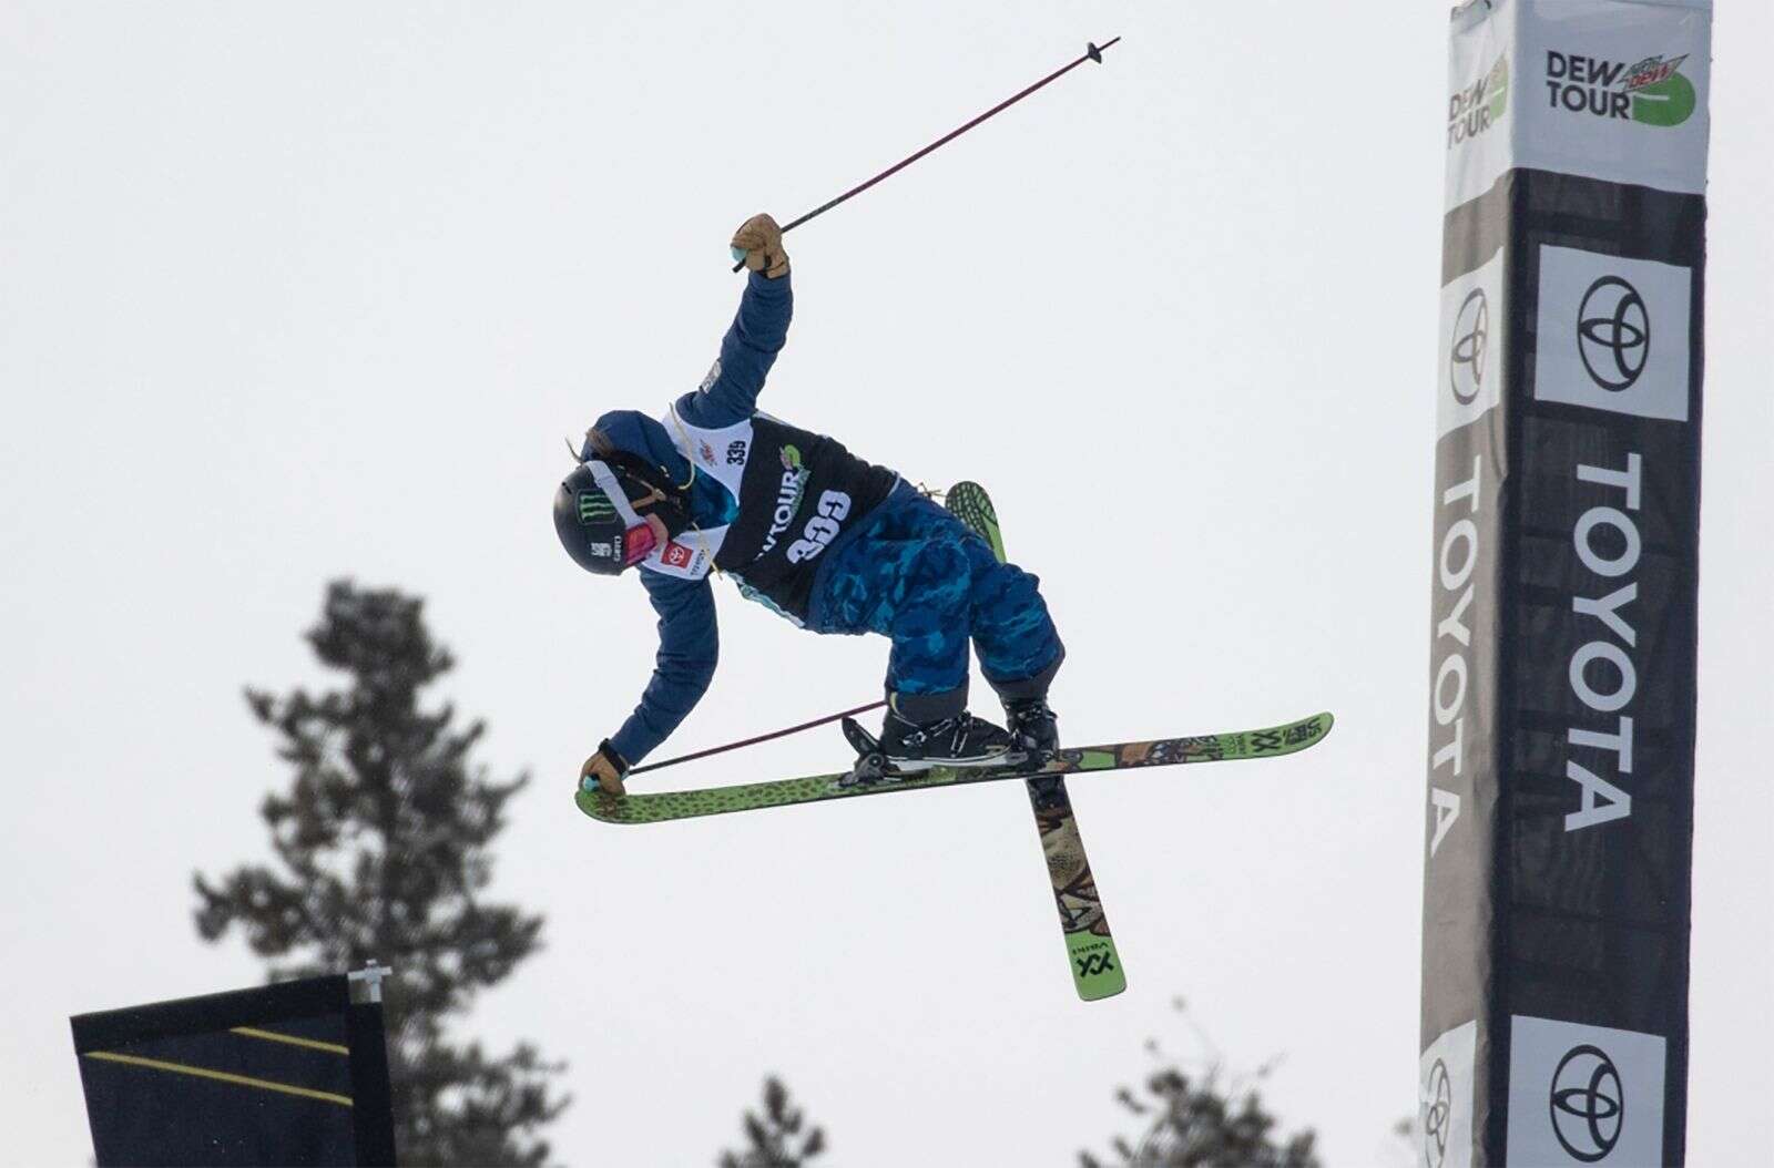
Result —
[[[757, 393], [788, 340], [795, 310], [789, 276], [775, 280], [749, 273], [740, 310], [720, 342], [720, 360], [695, 392], [676, 401], [678, 417], [688, 425], [718, 429], [750, 418], [757, 411]], [[672, 445], [665, 427], [644, 413], [616, 409], [598, 418], [596, 427], [610, 441], [632, 454], [663, 464], [679, 482], [690, 477], [690, 463]], [[593, 457], [587, 448], [582, 457]], [[729, 523], [738, 500], [710, 475], [697, 475], [690, 487], [690, 516], [699, 528]], [[834, 541], [827, 562], [836, 560], [841, 544], [862, 525], [853, 525]], [[821, 565], [823, 569], [823, 565]], [[610, 736], [610, 746], [630, 764], [639, 762], [688, 716], [708, 691], [718, 659], [715, 596], [708, 578], [676, 580], [640, 571], [653, 611], [658, 613], [660, 647], [653, 679], [640, 704], [623, 727]]]

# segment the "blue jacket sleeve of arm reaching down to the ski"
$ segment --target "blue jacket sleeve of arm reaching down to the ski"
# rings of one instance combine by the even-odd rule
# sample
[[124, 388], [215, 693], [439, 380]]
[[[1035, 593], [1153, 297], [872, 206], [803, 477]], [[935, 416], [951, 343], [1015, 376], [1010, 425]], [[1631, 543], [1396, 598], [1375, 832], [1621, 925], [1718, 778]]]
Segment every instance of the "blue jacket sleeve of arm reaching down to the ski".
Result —
[[640, 695], [640, 705], [623, 728], [610, 736], [610, 746], [633, 766], [671, 737], [715, 677], [718, 635], [715, 627], [715, 590], [708, 580], [678, 580], [640, 571], [640, 583], [660, 615], [660, 650], [653, 681]]

